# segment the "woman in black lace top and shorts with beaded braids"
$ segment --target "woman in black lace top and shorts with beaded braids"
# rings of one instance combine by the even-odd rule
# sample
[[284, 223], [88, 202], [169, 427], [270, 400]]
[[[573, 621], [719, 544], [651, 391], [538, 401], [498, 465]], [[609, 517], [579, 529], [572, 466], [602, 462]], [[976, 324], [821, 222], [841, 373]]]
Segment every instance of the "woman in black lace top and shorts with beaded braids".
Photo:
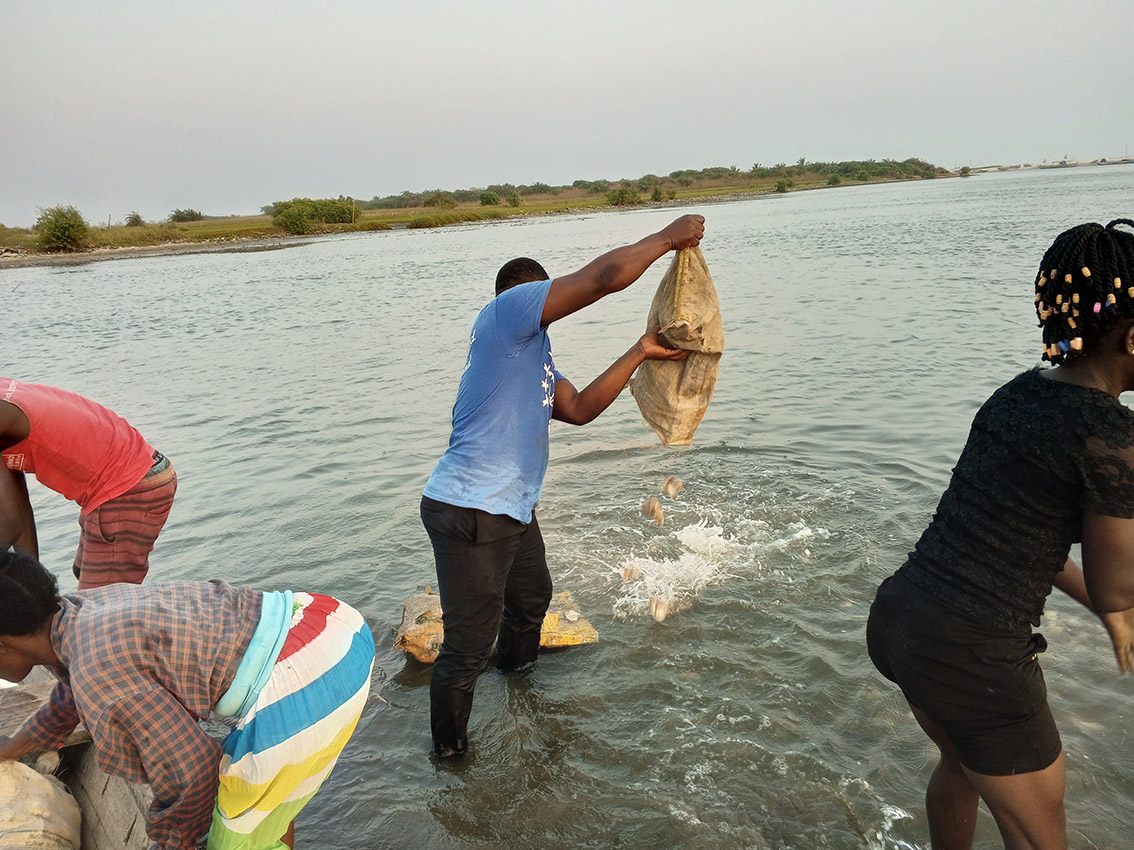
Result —
[[[1043, 359], [984, 402], [929, 528], [878, 589], [871, 660], [941, 751], [934, 850], [973, 844], [983, 799], [1005, 848], [1064, 850], [1064, 756], [1033, 634], [1052, 587], [1134, 670], [1134, 227], [1056, 238], [1035, 279]], [[1067, 555], [1082, 543], [1082, 569]]]

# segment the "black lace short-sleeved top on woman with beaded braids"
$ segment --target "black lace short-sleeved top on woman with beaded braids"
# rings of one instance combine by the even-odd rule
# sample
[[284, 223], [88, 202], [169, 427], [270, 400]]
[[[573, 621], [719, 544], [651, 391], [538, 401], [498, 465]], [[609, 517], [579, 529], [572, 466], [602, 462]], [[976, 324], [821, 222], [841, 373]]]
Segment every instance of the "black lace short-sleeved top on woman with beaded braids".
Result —
[[899, 570], [1012, 634], [1039, 626], [1084, 510], [1134, 517], [1134, 411], [1043, 372], [1017, 375], [976, 413], [949, 487]]

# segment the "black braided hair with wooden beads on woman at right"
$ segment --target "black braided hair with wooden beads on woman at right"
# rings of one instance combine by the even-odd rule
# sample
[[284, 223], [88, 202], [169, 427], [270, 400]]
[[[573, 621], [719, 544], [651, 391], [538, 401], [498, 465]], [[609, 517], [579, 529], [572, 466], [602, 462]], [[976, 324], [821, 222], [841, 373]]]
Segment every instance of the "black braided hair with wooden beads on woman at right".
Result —
[[1131, 219], [1078, 224], [1057, 236], [1043, 255], [1035, 314], [1044, 360], [1080, 356], [1111, 328], [1134, 322], [1134, 233], [1118, 224], [1134, 228]]

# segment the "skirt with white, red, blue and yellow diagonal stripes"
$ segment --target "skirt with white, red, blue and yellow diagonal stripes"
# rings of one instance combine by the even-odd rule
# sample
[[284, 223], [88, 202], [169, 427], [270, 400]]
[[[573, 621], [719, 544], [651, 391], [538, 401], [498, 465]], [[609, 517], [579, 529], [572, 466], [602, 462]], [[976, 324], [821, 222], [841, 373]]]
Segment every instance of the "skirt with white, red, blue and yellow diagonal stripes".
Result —
[[210, 850], [284, 848], [349, 740], [370, 692], [374, 638], [362, 614], [294, 594], [287, 639], [255, 704], [225, 739]]

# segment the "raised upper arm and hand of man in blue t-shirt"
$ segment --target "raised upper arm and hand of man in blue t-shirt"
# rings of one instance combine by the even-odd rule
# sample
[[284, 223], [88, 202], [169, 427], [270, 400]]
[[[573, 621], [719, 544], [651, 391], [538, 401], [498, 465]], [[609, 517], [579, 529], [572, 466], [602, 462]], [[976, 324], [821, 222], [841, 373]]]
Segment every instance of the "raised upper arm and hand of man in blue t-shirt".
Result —
[[626, 289], [655, 260], [671, 250], [696, 247], [704, 236], [704, 223], [703, 215], [683, 215], [657, 233], [609, 250], [577, 272], [556, 278], [543, 303], [540, 323], [547, 326], [600, 298]]

